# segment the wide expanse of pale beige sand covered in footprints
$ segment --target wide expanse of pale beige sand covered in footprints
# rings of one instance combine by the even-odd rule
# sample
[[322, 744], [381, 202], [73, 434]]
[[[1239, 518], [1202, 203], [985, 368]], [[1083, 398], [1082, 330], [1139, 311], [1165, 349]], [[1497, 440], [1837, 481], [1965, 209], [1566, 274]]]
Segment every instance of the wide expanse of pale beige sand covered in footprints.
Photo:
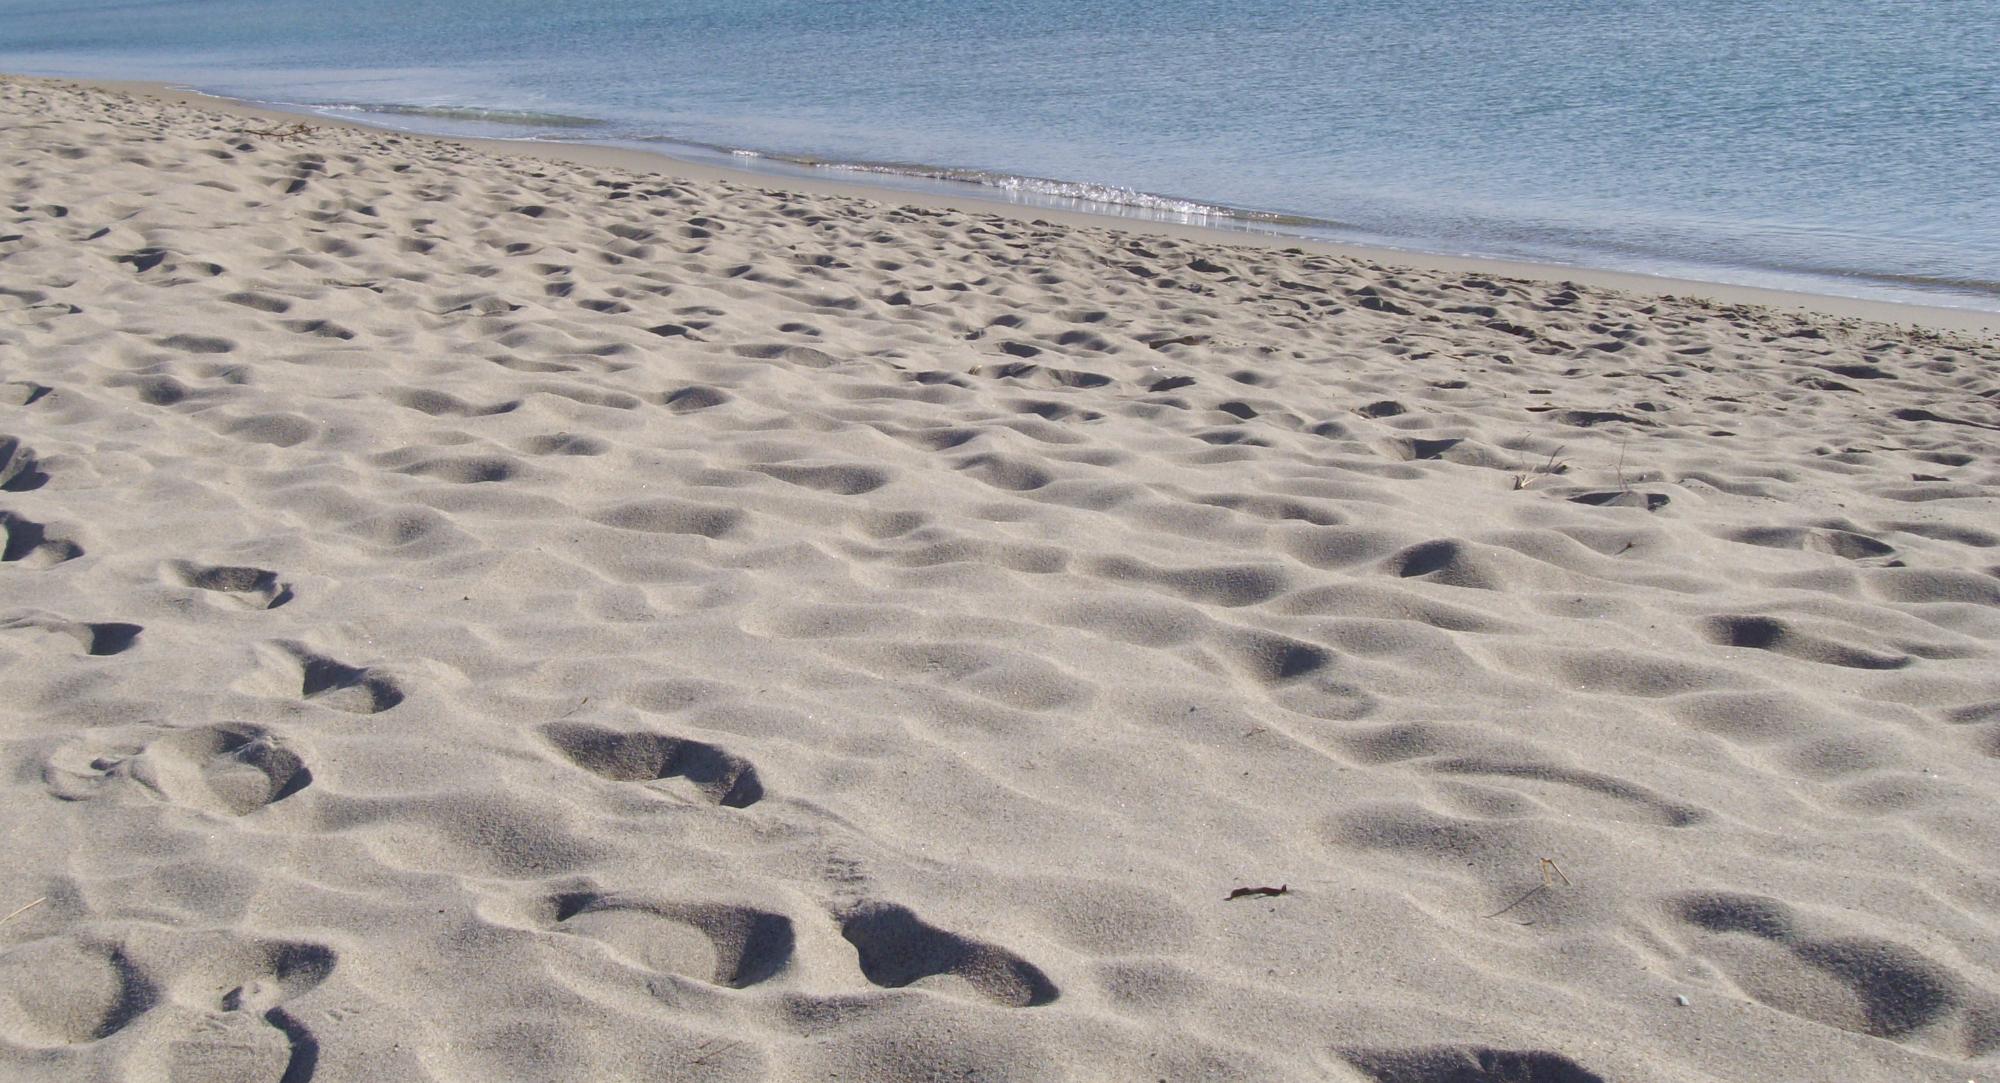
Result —
[[274, 124], [0, 82], [0, 1077], [2000, 1073], [1994, 338]]

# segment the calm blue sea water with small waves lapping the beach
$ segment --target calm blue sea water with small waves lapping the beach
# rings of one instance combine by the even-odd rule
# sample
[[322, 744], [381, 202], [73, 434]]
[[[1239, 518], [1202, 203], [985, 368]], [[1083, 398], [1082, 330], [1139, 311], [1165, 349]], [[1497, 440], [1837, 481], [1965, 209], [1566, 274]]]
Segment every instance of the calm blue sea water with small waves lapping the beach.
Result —
[[0, 0], [0, 70], [2000, 310], [2000, 0]]

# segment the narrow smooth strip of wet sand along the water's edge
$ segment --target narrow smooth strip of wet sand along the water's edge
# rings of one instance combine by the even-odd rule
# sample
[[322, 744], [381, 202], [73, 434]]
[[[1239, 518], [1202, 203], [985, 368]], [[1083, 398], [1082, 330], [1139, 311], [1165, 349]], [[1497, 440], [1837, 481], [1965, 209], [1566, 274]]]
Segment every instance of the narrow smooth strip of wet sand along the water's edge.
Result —
[[158, 82], [158, 80], [100, 80], [100, 78], [16, 76], [16, 74], [0, 74], [0, 78], [74, 84], [74, 86], [110, 90], [120, 94], [148, 96], [160, 102], [208, 108], [232, 116], [262, 118], [274, 124], [308, 122], [328, 128], [392, 132], [404, 138], [424, 138], [424, 140], [438, 140], [444, 144], [468, 146], [486, 154], [542, 158], [578, 166], [618, 168], [640, 174], [666, 174], [694, 182], [728, 180], [734, 184], [744, 184], [762, 190], [796, 192], [808, 196], [848, 196], [848, 198], [862, 198], [888, 204], [920, 206], [930, 210], [996, 214], [1018, 222], [1044, 220], [1064, 226], [1118, 230], [1136, 236], [1168, 236], [1204, 244], [1224, 244], [1224, 246], [1258, 248], [1258, 250], [1302, 250], [1314, 256], [1352, 258], [1386, 268], [1412, 268], [1424, 272], [1458, 272], [1458, 274], [1498, 274], [1528, 282], [1552, 282], [1552, 284], [1568, 282], [1580, 286], [1620, 290], [1640, 296], [1696, 298], [1712, 304], [1744, 304], [1744, 306], [1760, 306], [1760, 308], [1776, 308], [1792, 312], [1814, 312], [1820, 316], [1870, 320], [1870, 322], [1898, 324], [1898, 326], [1908, 324], [1928, 330], [2000, 334], [2000, 312], [1984, 312], [1974, 308], [1882, 302], [1866, 298], [1844, 298], [1836, 294], [1810, 294], [1794, 290], [1772, 290], [1762, 286], [1736, 286], [1724, 282], [1702, 282], [1692, 278], [1652, 276], [1640, 272], [1620, 272], [1620, 270], [1584, 268], [1568, 264], [1538, 264], [1528, 260], [1500, 260], [1500, 258], [1480, 258], [1480, 256], [1448, 256], [1448, 254], [1416, 252], [1416, 250], [1388, 248], [1388, 246], [1328, 242], [1304, 236], [1264, 234], [1248, 228], [1230, 230], [1218, 226], [1156, 222], [1156, 220], [1126, 218], [1116, 214], [1094, 214], [1082, 210], [1030, 206], [1030, 204], [1008, 202], [1002, 198], [986, 198], [976, 192], [966, 192], [962, 196], [930, 194], [930, 192], [896, 188], [888, 184], [870, 184], [866, 180], [790, 176], [790, 174], [752, 170], [752, 168], [730, 168], [712, 162], [694, 162], [688, 158], [676, 158], [664, 150], [638, 150], [614, 144], [584, 144], [584, 142], [572, 144], [572, 142], [552, 142], [552, 140], [508, 140], [508, 138], [482, 138], [482, 136], [438, 136], [428, 132], [414, 132], [408, 128], [388, 128], [380, 124], [368, 124], [364, 120], [326, 116], [322, 112], [312, 112], [306, 106], [284, 108], [266, 102], [246, 102], [240, 98], [226, 98], [190, 86]]

